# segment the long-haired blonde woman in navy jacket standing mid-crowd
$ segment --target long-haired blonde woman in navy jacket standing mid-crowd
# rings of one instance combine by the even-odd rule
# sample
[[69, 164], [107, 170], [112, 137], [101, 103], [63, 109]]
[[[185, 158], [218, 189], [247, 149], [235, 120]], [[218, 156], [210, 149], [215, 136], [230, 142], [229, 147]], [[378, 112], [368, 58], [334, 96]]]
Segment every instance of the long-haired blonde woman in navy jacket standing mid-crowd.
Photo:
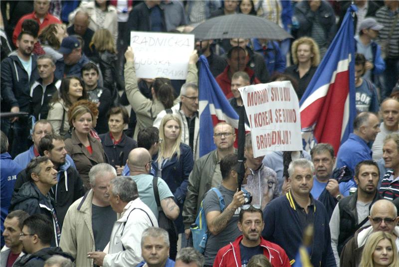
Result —
[[[168, 184], [178, 202], [180, 214], [175, 222], [179, 234], [184, 232], [183, 203], [186, 198], [189, 175], [194, 166], [193, 151], [190, 146], [181, 143], [181, 129], [182, 122], [177, 115], [167, 114], [162, 119], [159, 136], [163, 141], [152, 163], [154, 174]], [[171, 240], [171, 257], [176, 257], [176, 246], [177, 240]]]

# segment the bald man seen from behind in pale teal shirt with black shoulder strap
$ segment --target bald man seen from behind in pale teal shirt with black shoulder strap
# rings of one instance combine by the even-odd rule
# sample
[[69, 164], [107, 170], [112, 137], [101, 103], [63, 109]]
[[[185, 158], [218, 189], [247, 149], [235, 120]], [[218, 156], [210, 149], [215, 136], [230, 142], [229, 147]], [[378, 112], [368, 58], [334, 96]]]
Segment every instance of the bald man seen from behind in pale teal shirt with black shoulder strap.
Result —
[[[129, 153], [128, 167], [131, 175], [130, 178], [137, 184], [140, 199], [150, 207], [151, 211], [158, 219], [158, 207], [153, 188], [154, 176], [149, 174], [151, 162], [150, 152], [145, 148], [135, 148]], [[176, 220], [179, 216], [180, 209], [173, 199], [173, 193], [162, 179], [158, 179], [157, 187], [162, 211], [169, 219], [173, 221]]]

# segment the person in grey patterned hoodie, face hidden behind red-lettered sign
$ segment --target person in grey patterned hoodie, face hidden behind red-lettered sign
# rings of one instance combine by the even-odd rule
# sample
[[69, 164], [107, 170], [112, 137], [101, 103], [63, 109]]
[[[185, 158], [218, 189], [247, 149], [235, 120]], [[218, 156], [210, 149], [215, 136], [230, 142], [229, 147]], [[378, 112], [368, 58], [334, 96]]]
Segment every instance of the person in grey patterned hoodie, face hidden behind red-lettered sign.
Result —
[[244, 155], [250, 173], [243, 187], [251, 193], [252, 205], [259, 205], [263, 210], [267, 203], [280, 195], [277, 189], [277, 174], [262, 163], [264, 156], [253, 156], [251, 133], [245, 135]]

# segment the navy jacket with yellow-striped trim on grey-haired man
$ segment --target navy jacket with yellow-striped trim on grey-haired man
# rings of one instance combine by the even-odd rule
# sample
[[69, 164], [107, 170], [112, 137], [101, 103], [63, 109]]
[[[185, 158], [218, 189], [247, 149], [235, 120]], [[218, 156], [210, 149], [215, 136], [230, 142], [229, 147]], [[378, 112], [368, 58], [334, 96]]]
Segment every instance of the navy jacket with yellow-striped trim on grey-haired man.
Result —
[[[315, 267], [336, 267], [326, 209], [318, 200], [314, 200], [314, 204], [314, 235], [309, 253], [310, 261]], [[269, 202], [263, 211], [263, 219], [263, 238], [283, 248], [292, 264], [302, 245], [304, 229], [300, 226], [291, 192]]]

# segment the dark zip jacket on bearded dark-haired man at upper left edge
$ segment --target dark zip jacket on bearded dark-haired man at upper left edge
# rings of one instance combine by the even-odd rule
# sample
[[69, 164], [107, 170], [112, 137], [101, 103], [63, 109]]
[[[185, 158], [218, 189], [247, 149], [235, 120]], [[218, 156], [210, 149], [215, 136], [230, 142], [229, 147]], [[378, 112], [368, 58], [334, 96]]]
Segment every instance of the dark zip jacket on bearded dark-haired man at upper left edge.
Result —
[[39, 78], [36, 56], [32, 54], [30, 77], [14, 51], [1, 61], [1, 111], [9, 112], [18, 106], [19, 111], [30, 112], [30, 86]]

